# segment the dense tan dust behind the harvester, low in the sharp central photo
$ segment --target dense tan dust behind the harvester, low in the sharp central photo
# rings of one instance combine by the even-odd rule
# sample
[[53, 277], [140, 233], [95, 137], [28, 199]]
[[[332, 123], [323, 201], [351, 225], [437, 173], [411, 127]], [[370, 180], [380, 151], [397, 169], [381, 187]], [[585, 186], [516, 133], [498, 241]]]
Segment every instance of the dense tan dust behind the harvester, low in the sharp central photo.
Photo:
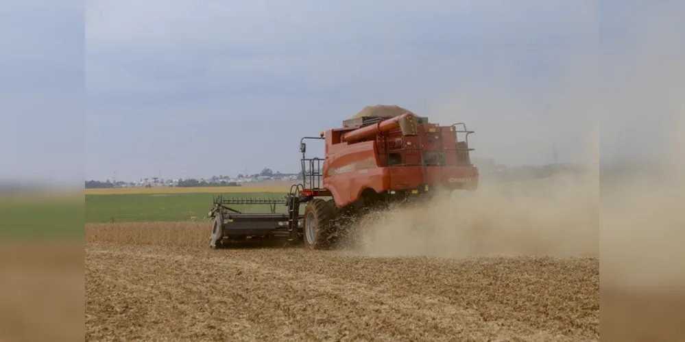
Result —
[[372, 256], [481, 257], [599, 254], [598, 179], [562, 175], [476, 192], [438, 194], [422, 204], [369, 215], [360, 227]]

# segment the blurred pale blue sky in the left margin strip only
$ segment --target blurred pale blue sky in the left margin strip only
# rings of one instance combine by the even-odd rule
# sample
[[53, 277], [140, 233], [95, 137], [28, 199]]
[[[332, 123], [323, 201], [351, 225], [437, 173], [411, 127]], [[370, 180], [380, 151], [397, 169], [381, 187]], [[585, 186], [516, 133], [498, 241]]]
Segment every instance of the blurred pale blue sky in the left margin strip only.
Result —
[[83, 3], [0, 1], [0, 181], [83, 178]]

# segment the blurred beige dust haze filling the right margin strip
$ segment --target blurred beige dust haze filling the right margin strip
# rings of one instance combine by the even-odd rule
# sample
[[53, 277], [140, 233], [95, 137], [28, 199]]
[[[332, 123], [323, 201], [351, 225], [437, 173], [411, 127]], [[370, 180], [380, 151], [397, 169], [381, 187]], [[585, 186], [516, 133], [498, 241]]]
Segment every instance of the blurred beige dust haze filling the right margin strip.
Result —
[[[632, 44], [607, 64], [602, 139], [622, 148], [626, 172], [601, 183], [603, 287], [682, 291], [685, 286], [685, 3], [649, 3], [629, 21]], [[607, 58], [609, 60], [609, 58]], [[616, 147], [620, 146], [620, 147]], [[624, 163], [625, 164], [625, 163]], [[635, 169], [634, 167], [633, 169]], [[623, 174], [621, 174], [623, 173]]]

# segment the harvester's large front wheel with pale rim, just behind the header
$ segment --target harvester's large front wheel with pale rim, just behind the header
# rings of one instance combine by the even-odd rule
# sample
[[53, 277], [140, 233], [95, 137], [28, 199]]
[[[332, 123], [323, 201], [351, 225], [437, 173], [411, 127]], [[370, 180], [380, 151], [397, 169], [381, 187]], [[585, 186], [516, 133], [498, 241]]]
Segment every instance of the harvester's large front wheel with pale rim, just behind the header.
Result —
[[313, 250], [330, 248], [334, 241], [335, 228], [331, 219], [333, 207], [326, 200], [314, 198], [304, 209], [304, 246]]

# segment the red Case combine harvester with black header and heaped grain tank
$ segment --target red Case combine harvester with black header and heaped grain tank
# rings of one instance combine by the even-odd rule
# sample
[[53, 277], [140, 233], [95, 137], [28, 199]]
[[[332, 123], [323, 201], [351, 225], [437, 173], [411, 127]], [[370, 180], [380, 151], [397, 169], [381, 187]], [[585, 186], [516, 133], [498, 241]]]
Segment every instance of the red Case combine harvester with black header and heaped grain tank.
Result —
[[[463, 141], [457, 133], [463, 133]], [[469, 157], [470, 133], [464, 123], [440, 126], [406, 112], [359, 116], [320, 137], [303, 137], [302, 183], [283, 199], [216, 197], [209, 213], [214, 218], [210, 246], [220, 248], [227, 239], [283, 237], [307, 248], [328, 248], [339, 236], [341, 218], [425, 198], [437, 188], [474, 191], [479, 171]], [[323, 140], [325, 157], [307, 157], [305, 140]], [[270, 205], [271, 212], [242, 213], [228, 205]], [[287, 212], [277, 213], [276, 205], [285, 205]]]

